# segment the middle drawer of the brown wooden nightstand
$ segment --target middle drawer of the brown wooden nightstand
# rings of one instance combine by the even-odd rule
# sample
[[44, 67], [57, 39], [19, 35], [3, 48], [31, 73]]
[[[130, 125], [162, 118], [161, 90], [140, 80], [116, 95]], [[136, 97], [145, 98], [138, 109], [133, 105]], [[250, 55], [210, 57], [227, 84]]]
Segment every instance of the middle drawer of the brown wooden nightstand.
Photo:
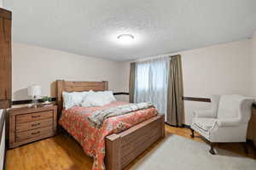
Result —
[[40, 121], [34, 121], [34, 122], [23, 122], [23, 123], [17, 123], [16, 124], [16, 133], [32, 130], [35, 128], [41, 128], [41, 127], [49, 127], [53, 124], [53, 119], [44, 119]]

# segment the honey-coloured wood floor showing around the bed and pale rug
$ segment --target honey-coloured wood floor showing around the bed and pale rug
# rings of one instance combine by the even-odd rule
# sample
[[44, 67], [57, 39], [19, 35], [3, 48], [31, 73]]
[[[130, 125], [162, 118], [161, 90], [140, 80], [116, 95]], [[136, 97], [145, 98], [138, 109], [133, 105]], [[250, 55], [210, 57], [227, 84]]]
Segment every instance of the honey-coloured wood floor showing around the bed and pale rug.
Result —
[[[166, 125], [166, 136], [173, 134], [191, 139], [189, 136], [189, 129]], [[193, 140], [203, 142], [199, 138]], [[129, 169], [160, 142], [161, 141], [151, 146], [125, 169]], [[248, 155], [244, 153], [241, 144], [218, 144], [217, 147], [256, 160], [256, 153], [255, 150], [253, 150], [253, 145], [247, 144], [247, 146], [249, 149]], [[59, 134], [54, 138], [43, 139], [32, 144], [26, 144], [13, 150], [8, 150], [6, 157], [7, 170], [90, 170], [91, 166], [92, 159], [89, 156], [85, 156], [84, 151], [79, 144], [72, 138], [63, 134]]]

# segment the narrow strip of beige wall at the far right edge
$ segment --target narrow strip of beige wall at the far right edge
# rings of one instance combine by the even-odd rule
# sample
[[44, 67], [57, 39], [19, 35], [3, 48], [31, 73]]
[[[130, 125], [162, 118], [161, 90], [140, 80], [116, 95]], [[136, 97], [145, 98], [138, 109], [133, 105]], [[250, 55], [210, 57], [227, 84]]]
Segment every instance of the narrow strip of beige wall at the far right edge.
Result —
[[252, 87], [251, 87], [251, 93], [256, 98], [256, 31], [253, 34], [252, 37], [252, 46], [251, 46], [251, 68], [252, 68]]

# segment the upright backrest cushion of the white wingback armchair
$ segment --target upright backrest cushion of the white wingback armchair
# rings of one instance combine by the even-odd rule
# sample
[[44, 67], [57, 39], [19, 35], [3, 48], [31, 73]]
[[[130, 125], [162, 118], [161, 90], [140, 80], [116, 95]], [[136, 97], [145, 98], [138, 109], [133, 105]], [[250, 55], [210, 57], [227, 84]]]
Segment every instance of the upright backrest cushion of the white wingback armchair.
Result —
[[222, 95], [218, 104], [218, 119], [229, 119], [237, 117], [240, 103], [240, 95]]

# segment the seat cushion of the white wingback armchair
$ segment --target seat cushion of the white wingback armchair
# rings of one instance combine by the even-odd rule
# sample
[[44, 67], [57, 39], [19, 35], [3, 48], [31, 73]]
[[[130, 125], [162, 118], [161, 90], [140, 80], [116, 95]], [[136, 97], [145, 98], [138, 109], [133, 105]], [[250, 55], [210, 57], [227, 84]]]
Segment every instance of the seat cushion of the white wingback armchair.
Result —
[[205, 132], [209, 131], [214, 125], [217, 119], [214, 118], [194, 118], [193, 125]]

